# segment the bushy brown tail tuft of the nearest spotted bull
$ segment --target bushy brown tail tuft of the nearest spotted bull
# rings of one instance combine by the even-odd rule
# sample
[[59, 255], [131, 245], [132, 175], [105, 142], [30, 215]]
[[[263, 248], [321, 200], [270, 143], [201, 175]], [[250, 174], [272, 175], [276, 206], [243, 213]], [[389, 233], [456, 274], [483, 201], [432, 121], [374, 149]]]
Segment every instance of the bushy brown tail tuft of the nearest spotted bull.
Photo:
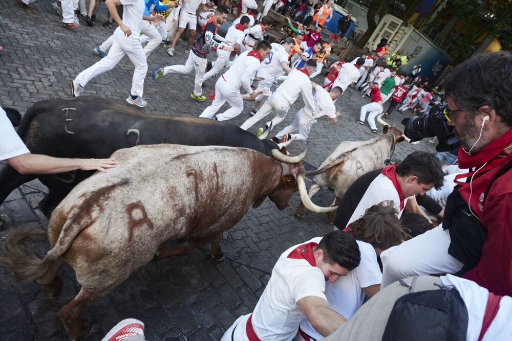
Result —
[[42, 286], [52, 284], [63, 264], [61, 257], [40, 259], [24, 244], [48, 240], [46, 231], [34, 228], [17, 228], [7, 234], [0, 261], [9, 265], [20, 282], [36, 282]]

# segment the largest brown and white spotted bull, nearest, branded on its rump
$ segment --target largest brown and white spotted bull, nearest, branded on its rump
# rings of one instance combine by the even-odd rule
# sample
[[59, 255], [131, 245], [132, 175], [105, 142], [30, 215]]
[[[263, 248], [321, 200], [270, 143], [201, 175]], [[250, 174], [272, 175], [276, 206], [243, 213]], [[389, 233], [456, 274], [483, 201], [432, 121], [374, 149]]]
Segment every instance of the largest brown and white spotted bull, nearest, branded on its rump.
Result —
[[[60, 318], [76, 339], [89, 331], [80, 320], [83, 309], [156, 254], [157, 259], [185, 255], [211, 243], [210, 256], [222, 259], [222, 232], [251, 203], [268, 196], [283, 210], [298, 187], [308, 209], [330, 211], [307, 197], [300, 163], [305, 153], [291, 157], [276, 150], [279, 162], [236, 147], [161, 144], [120, 149], [112, 155], [119, 161], [117, 168], [83, 180], [53, 211], [48, 225], [52, 248], [44, 259], [22, 245], [46, 238], [44, 231], [13, 229], [0, 260], [18, 280], [34, 281], [53, 296], [60, 291], [57, 272], [63, 263], [75, 269], [82, 288], [62, 307]], [[163, 242], [177, 239], [185, 242], [157, 252]]]

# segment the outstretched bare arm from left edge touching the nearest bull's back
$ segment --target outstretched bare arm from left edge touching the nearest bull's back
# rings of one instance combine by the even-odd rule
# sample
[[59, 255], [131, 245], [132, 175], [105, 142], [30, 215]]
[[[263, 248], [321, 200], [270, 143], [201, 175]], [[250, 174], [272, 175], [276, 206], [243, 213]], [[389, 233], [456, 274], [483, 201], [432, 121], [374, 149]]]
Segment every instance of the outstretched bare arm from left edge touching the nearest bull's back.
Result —
[[23, 154], [7, 159], [21, 174], [54, 174], [81, 170], [100, 170], [117, 166], [114, 158], [60, 158], [40, 154]]

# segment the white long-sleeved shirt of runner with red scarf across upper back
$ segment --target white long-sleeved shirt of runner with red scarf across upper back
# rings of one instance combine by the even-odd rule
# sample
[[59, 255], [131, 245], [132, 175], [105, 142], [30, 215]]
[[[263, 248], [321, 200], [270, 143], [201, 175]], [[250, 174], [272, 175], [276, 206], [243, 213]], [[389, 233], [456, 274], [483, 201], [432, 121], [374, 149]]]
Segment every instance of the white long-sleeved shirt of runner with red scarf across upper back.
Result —
[[241, 53], [240, 56], [234, 60], [231, 67], [229, 67], [229, 70], [217, 81], [225, 81], [236, 89], [243, 86], [246, 93], [252, 93], [251, 79], [254, 78], [254, 75], [260, 67], [260, 60], [256, 57], [248, 56], [250, 52], [251, 51], [246, 51]]

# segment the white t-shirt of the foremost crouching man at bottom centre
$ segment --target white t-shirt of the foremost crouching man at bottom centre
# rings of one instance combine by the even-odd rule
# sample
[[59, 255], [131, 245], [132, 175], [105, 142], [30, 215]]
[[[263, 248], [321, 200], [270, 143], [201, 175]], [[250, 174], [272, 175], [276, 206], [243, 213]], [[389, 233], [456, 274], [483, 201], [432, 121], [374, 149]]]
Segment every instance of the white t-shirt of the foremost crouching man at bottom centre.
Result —
[[275, 263], [272, 276], [252, 313], [252, 326], [260, 339], [291, 340], [303, 317], [297, 301], [308, 296], [327, 300], [322, 270], [306, 259], [289, 258], [298, 247], [311, 242], [318, 244], [320, 240], [322, 238], [317, 237], [290, 247]]

